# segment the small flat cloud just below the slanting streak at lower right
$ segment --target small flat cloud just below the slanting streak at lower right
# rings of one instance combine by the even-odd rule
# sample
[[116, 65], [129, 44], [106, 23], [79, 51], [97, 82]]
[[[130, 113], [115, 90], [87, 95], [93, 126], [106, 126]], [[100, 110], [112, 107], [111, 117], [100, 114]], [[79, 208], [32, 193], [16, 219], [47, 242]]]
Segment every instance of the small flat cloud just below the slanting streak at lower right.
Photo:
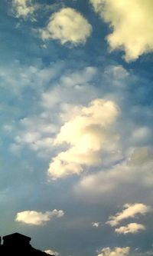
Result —
[[144, 231], [145, 226], [143, 224], [138, 224], [138, 223], [130, 223], [127, 224], [126, 226], [122, 226], [119, 228], [116, 228], [115, 231], [116, 233], [119, 234], [135, 234], [138, 233], [138, 231]]

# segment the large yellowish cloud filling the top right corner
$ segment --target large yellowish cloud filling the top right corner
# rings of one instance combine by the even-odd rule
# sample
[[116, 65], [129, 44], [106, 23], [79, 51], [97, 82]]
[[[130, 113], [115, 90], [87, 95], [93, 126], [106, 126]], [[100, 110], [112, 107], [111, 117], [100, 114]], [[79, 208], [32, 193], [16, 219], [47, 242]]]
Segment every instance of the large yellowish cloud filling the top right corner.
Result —
[[111, 50], [124, 50], [126, 62], [153, 52], [151, 0], [90, 0], [90, 3], [112, 28], [106, 37]]

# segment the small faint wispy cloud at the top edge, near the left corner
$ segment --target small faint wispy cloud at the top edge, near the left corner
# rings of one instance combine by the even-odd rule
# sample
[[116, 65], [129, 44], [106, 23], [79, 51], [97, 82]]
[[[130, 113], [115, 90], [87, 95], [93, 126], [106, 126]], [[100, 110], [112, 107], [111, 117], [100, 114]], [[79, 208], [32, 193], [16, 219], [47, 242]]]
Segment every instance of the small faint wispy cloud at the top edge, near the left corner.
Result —
[[34, 14], [36, 5], [33, 5], [31, 0], [13, 0], [12, 8], [17, 18], [27, 18]]

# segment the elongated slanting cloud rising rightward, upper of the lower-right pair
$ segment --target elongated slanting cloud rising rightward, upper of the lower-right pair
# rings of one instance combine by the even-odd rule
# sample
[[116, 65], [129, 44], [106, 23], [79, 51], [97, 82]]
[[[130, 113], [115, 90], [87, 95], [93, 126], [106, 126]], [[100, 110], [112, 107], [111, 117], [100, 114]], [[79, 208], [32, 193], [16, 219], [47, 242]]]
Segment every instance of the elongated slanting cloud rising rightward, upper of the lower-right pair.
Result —
[[115, 216], [110, 216], [106, 224], [110, 224], [112, 227], [120, 223], [120, 221], [127, 218], [135, 218], [136, 215], [142, 214], [145, 215], [150, 211], [151, 208], [145, 204], [125, 204], [124, 210], [118, 212]]

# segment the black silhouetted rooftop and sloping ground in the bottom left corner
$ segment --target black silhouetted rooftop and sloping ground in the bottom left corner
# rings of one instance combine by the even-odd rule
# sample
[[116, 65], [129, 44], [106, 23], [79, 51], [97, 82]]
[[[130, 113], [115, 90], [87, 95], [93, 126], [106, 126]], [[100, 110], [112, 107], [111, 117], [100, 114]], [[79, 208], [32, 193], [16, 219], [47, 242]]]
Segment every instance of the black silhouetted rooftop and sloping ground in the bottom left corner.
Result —
[[[3, 240], [3, 244], [1, 241]], [[0, 237], [0, 256], [27, 255], [27, 256], [47, 256], [44, 251], [33, 248], [30, 244], [31, 238], [24, 234], [8, 234]], [[54, 255], [52, 255], [54, 256]]]

